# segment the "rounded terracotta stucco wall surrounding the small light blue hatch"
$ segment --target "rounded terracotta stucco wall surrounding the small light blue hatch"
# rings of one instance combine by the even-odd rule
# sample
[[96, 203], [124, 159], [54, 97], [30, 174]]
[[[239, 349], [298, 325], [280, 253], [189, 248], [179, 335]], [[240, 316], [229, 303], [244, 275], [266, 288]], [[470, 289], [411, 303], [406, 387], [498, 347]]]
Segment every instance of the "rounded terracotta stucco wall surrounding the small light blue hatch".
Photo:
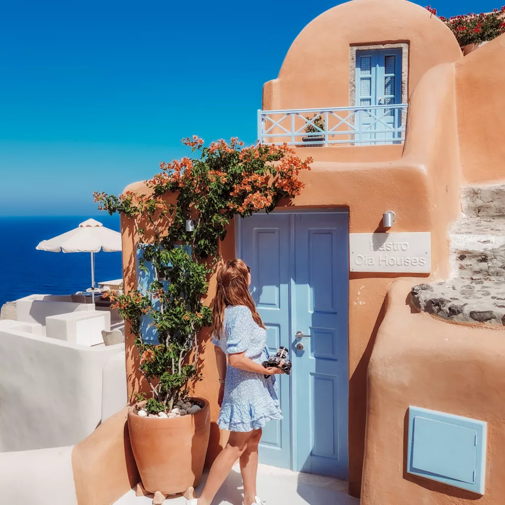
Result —
[[[412, 314], [395, 283], [369, 366], [362, 505], [495, 505], [505, 495], [503, 330]], [[488, 423], [485, 494], [407, 473], [410, 405]]]

